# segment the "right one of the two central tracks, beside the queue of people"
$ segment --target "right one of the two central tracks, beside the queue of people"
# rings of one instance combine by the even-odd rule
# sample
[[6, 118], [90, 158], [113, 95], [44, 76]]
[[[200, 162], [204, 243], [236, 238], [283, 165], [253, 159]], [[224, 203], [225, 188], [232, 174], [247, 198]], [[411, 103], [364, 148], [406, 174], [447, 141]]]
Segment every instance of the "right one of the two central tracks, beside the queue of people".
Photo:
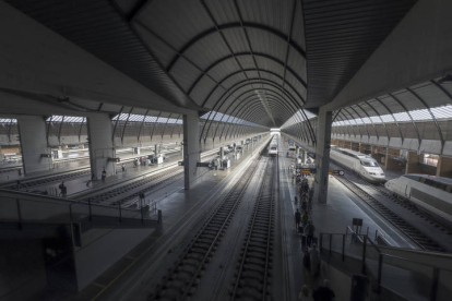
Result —
[[230, 300], [271, 300], [275, 159], [265, 169], [237, 264]]

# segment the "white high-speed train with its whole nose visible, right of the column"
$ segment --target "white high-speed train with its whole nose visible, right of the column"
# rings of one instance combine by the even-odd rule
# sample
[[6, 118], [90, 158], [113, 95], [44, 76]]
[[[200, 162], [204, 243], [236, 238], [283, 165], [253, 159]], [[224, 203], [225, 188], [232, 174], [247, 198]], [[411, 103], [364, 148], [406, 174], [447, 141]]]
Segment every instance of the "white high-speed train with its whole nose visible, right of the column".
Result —
[[337, 165], [352, 169], [370, 182], [381, 183], [385, 180], [384, 171], [377, 160], [368, 155], [333, 146], [331, 147], [330, 158]]

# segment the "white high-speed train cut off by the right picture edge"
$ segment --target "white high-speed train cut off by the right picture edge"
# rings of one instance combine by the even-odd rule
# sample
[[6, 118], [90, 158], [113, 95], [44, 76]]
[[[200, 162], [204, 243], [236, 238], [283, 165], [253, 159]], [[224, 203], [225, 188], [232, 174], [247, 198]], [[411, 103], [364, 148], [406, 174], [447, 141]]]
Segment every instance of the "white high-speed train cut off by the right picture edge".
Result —
[[384, 186], [426, 210], [452, 222], [452, 179], [408, 173]]

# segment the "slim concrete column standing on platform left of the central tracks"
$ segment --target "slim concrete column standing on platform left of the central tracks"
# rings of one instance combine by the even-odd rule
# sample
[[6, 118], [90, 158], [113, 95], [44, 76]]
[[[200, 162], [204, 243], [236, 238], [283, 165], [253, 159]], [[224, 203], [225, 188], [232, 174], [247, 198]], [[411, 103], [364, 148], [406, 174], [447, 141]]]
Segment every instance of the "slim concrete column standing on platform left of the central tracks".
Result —
[[183, 174], [185, 189], [194, 184], [200, 160], [200, 121], [198, 116], [183, 116]]

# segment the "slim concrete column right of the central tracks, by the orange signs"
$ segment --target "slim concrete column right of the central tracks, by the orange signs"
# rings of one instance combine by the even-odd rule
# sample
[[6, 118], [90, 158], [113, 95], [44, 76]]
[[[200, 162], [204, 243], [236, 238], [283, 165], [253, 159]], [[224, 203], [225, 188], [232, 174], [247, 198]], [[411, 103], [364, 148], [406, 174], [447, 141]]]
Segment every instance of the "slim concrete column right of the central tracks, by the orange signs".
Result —
[[326, 203], [328, 182], [330, 171], [330, 148], [331, 148], [331, 121], [332, 112], [320, 110], [318, 119], [316, 165], [317, 173], [314, 181], [316, 198], [319, 203]]

